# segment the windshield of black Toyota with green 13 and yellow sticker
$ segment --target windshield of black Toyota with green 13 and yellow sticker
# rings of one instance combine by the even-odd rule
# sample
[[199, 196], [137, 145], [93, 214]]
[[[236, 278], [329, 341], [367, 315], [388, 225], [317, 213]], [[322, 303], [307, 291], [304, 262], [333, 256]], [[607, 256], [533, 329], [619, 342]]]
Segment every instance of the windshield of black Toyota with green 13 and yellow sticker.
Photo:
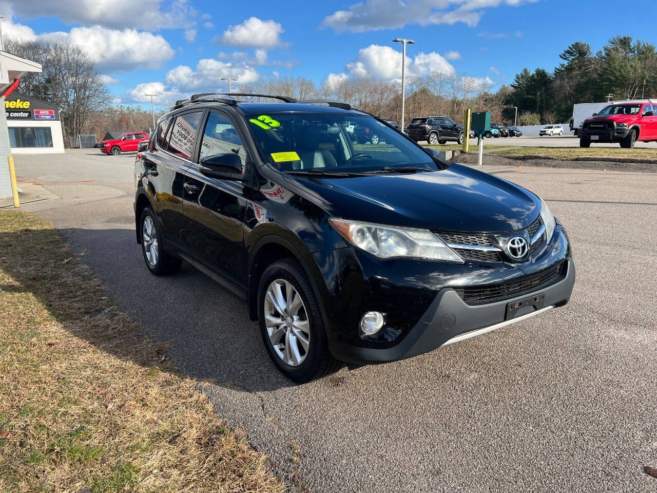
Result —
[[283, 172], [437, 169], [428, 153], [371, 116], [273, 112], [247, 114], [246, 120], [265, 161]]

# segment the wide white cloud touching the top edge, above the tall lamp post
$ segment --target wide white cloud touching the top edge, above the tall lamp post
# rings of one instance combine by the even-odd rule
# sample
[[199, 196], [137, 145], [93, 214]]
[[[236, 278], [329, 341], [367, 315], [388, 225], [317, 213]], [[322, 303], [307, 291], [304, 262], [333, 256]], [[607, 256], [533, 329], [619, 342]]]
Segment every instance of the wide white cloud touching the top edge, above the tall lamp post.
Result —
[[365, 32], [401, 28], [407, 24], [429, 26], [462, 22], [476, 26], [484, 9], [499, 5], [518, 6], [537, 0], [363, 0], [346, 11], [335, 11], [321, 26], [345, 31]]

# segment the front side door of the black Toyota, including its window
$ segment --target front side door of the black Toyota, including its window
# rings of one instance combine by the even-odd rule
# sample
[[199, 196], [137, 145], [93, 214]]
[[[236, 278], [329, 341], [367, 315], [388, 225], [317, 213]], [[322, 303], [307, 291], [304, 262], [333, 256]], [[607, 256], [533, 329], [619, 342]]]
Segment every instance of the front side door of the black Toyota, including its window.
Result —
[[[231, 117], [210, 110], [203, 127], [199, 159], [235, 153], [246, 172], [248, 157], [242, 137]], [[248, 189], [239, 181], [204, 176], [198, 166], [185, 173], [183, 210], [187, 218], [185, 242], [194, 266], [218, 271], [237, 285], [246, 285], [244, 215]], [[198, 264], [197, 264], [198, 262]]]

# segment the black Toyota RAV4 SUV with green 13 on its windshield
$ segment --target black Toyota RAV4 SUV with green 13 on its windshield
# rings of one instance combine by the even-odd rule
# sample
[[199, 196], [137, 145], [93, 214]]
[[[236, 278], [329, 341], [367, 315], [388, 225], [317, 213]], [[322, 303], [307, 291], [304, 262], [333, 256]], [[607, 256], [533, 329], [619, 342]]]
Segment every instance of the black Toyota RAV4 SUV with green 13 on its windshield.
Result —
[[186, 260], [244, 298], [290, 379], [568, 302], [568, 237], [539, 197], [345, 103], [277, 99], [195, 95], [162, 116], [135, 160], [135, 225], [154, 275]]

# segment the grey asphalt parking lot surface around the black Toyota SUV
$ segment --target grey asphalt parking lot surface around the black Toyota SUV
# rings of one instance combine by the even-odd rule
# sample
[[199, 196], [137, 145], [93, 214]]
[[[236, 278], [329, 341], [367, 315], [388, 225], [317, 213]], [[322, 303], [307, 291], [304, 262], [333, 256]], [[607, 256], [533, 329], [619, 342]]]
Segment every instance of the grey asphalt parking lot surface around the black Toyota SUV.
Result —
[[150, 275], [135, 243], [134, 154], [15, 160], [20, 180], [60, 197], [23, 210], [55, 223], [299, 490], [657, 491], [643, 472], [657, 466], [657, 174], [484, 166], [544, 197], [566, 225], [578, 268], [570, 304], [295, 387], [242, 300], [190, 266]]

